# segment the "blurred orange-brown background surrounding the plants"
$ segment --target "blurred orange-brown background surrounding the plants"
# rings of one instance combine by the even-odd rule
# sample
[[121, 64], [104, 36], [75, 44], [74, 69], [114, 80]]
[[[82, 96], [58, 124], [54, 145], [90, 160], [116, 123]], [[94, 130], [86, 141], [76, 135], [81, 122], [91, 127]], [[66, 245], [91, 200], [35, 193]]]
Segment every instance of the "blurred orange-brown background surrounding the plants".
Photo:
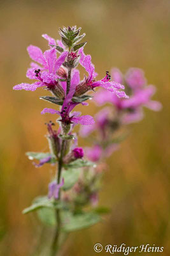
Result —
[[[21, 212], [35, 196], [47, 192], [53, 172], [48, 165], [34, 168], [25, 157], [26, 151], [47, 150], [44, 123], [53, 117], [40, 115], [50, 107], [38, 99], [43, 90], [16, 92], [12, 87], [29, 82], [26, 47], [38, 45], [45, 51], [41, 35], [59, 38], [58, 28], [69, 25], [81, 26], [87, 34], [85, 53], [92, 55], [99, 78], [111, 67], [123, 72], [143, 68], [148, 83], [157, 87], [154, 99], [163, 109], [145, 109], [145, 119], [131, 125], [131, 136], [108, 159], [104, 174], [99, 204], [111, 207], [111, 213], [103, 223], [74, 232], [64, 255], [95, 255], [96, 243], [149, 243], [164, 246], [161, 255], [169, 255], [170, 1], [6, 0], [0, 8], [0, 255], [28, 256], [34, 250], [41, 225], [35, 225], [34, 214]], [[81, 111], [94, 115], [97, 107], [91, 103]]]

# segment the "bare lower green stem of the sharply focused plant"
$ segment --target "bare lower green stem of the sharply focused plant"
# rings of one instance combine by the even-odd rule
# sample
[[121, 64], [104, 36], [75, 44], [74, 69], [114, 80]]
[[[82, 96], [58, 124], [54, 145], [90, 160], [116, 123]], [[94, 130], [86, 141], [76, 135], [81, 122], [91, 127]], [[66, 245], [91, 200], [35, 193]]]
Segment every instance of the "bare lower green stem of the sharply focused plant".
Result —
[[[63, 157], [63, 153], [64, 153], [64, 145], [65, 145], [65, 141], [62, 140], [62, 146], [61, 146], [61, 150], [60, 150], [60, 158], [59, 158], [59, 163], [58, 163], [57, 184], [60, 183], [60, 177], [61, 177], [61, 172], [62, 172], [62, 157]], [[57, 200], [60, 200], [60, 191], [59, 191], [59, 198]], [[55, 256], [57, 253], [57, 250], [59, 249], [59, 237], [60, 237], [60, 228], [61, 228], [60, 209], [56, 209], [55, 216], [56, 216], [57, 226], [55, 228], [55, 234], [53, 237], [51, 256]]]

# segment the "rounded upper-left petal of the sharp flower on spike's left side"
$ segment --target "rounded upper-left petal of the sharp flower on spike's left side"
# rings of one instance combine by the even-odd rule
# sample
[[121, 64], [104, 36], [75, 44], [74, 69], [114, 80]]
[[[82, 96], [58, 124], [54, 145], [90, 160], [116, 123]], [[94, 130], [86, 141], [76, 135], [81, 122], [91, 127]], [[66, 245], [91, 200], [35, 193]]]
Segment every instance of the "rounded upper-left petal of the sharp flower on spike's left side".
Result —
[[46, 61], [43, 56], [43, 52], [41, 51], [41, 49], [39, 49], [39, 47], [34, 46], [34, 45], [29, 45], [29, 47], [27, 47], [27, 51], [32, 60], [40, 63], [41, 65], [46, 65]]

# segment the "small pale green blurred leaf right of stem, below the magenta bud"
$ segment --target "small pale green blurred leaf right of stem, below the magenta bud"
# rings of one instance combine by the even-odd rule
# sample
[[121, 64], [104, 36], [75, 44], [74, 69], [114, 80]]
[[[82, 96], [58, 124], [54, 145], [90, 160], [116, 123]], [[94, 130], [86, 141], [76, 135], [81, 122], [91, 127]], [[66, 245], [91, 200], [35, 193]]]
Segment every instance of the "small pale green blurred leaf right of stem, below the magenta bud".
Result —
[[80, 170], [78, 169], [63, 170], [62, 177], [64, 178], [64, 186], [62, 186], [62, 189], [64, 190], [71, 189], [74, 186], [74, 184], [77, 182], [79, 175], [80, 175]]

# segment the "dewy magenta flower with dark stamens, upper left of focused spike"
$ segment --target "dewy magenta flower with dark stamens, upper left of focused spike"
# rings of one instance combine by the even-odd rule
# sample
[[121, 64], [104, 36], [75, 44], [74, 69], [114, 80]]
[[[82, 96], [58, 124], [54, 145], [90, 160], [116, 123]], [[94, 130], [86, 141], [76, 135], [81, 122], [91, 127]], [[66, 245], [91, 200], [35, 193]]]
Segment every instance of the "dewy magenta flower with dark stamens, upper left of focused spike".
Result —
[[38, 87], [46, 86], [48, 90], [54, 90], [59, 86], [57, 70], [64, 63], [68, 52], [64, 51], [60, 54], [59, 58], [56, 56], [56, 50], [50, 49], [44, 53], [34, 45], [27, 47], [27, 51], [32, 60], [38, 62], [31, 63], [31, 68], [28, 68], [26, 76], [29, 79], [36, 79], [37, 81], [29, 83], [17, 84], [13, 87], [13, 90], [27, 90], [35, 91]]

